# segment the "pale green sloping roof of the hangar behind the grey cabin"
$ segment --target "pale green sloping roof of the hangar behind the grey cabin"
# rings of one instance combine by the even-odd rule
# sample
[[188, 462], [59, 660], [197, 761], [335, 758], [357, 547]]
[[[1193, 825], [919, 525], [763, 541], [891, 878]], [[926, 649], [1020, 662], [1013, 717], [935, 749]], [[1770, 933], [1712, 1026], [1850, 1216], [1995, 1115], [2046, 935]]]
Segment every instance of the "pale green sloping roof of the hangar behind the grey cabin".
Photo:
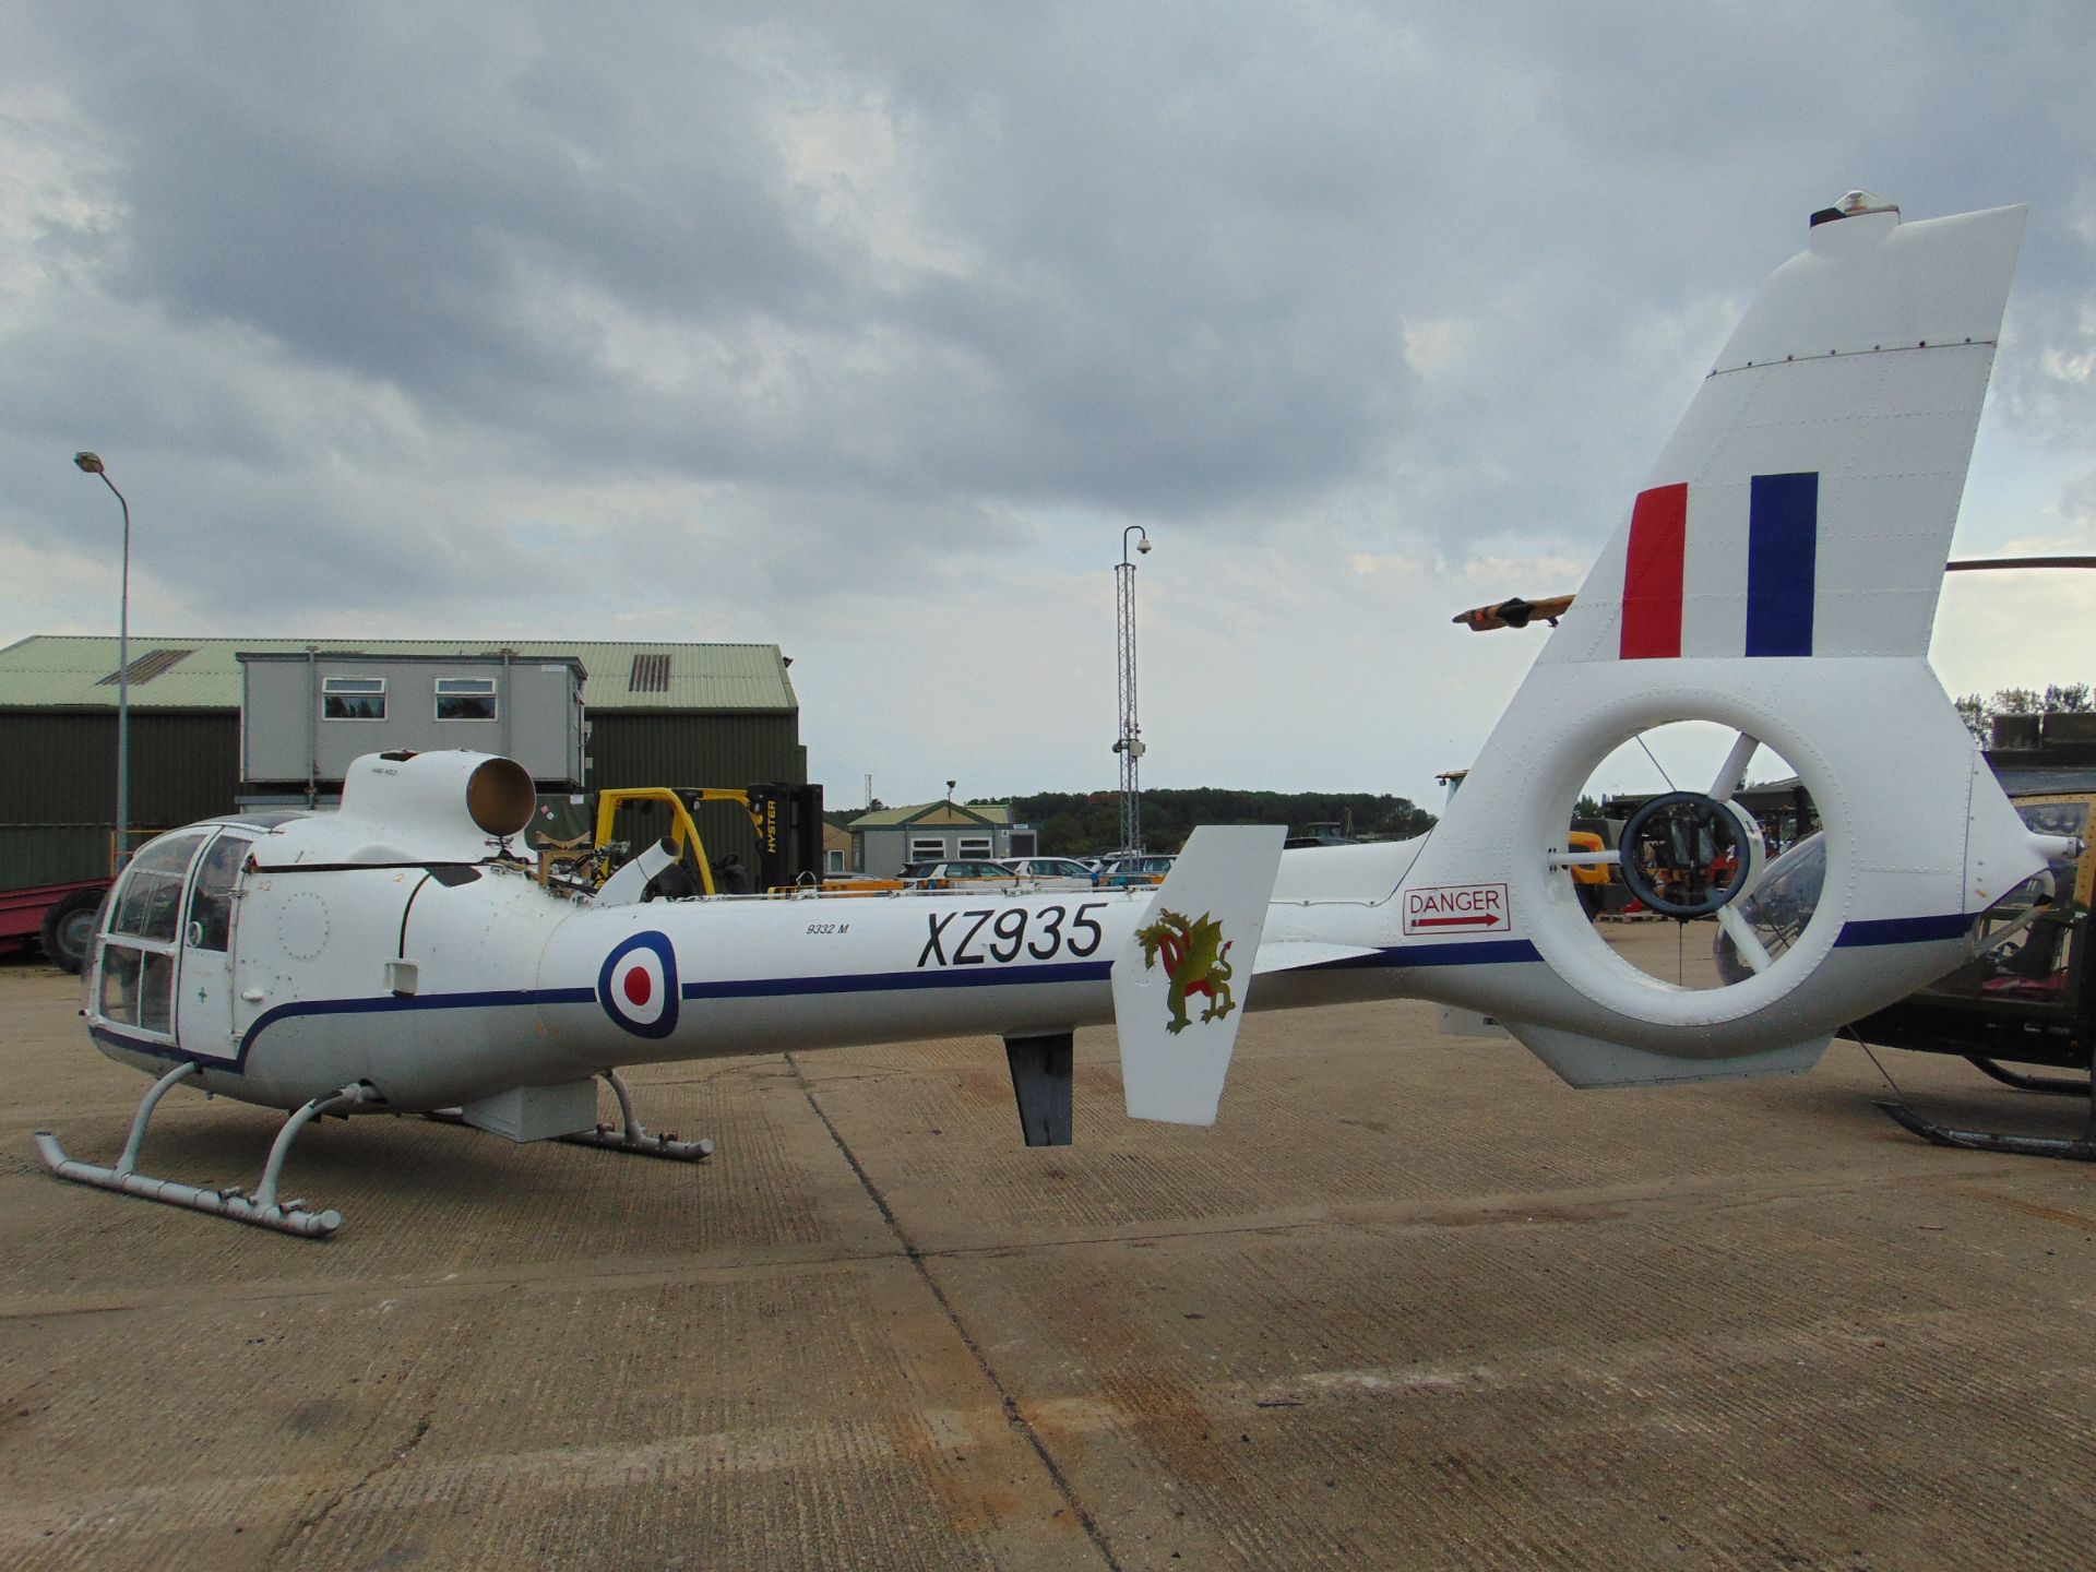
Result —
[[[340, 658], [574, 656], [593, 711], [799, 711], [776, 643], [608, 643], [597, 639], [149, 639], [130, 641], [132, 708], [237, 711], [241, 654]], [[117, 641], [40, 633], [0, 650], [0, 708], [99, 711], [117, 702]]]

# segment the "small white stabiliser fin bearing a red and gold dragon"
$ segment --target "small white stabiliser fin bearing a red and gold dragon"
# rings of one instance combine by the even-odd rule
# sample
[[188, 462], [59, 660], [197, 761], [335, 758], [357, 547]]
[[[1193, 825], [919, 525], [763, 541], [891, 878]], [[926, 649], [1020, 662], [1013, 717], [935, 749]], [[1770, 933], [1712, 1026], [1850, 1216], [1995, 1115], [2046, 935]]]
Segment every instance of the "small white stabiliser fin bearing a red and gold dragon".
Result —
[[1281, 826], [1195, 830], [1113, 958], [1130, 1117], [1216, 1123], [1285, 836]]

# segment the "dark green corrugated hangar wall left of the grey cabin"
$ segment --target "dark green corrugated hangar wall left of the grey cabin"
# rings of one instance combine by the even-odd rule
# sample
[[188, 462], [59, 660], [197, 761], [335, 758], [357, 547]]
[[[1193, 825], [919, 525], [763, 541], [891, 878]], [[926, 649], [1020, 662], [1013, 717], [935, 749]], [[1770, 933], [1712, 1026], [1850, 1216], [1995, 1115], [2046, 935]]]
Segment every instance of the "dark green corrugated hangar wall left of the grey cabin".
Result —
[[[166, 830], [233, 809], [239, 717], [132, 711], [130, 817]], [[111, 711], [0, 715], [0, 889], [109, 872], [117, 801]]]

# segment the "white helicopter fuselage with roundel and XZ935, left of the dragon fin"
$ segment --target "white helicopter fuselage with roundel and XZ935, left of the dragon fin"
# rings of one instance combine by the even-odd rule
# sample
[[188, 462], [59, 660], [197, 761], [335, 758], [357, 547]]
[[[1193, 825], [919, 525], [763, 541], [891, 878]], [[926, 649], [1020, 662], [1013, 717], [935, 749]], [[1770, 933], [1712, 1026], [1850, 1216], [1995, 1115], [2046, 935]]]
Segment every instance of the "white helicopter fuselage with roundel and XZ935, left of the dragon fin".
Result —
[[[237, 820], [212, 828], [254, 834]], [[195, 1058], [205, 1090], [268, 1107], [369, 1082], [384, 1102], [365, 1111], [425, 1111], [616, 1065], [1069, 1031], [1113, 1019], [1111, 958], [1155, 895], [597, 905], [505, 864], [457, 885], [425, 866], [300, 868], [300, 843], [331, 832], [319, 817], [256, 834], [226, 947], [195, 922], [161, 945], [172, 1019], [105, 981], [96, 1044], [140, 1069]]]

